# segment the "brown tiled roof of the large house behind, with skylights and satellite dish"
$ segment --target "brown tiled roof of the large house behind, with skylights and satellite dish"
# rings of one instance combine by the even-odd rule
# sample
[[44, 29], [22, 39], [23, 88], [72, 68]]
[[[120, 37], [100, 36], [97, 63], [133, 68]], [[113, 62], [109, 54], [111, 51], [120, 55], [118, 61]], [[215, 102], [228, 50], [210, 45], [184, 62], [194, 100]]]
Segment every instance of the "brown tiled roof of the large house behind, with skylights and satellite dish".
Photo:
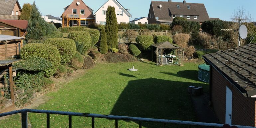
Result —
[[[199, 16], [198, 19], [187, 19], [189, 21], [204, 22], [210, 20], [204, 4], [168, 1], [151, 1], [154, 10], [154, 17], [159, 21], [173, 21], [171, 15]], [[162, 5], [160, 8], [159, 6]], [[180, 8], [177, 7], [180, 6]], [[188, 9], [187, 6], [190, 6]]]

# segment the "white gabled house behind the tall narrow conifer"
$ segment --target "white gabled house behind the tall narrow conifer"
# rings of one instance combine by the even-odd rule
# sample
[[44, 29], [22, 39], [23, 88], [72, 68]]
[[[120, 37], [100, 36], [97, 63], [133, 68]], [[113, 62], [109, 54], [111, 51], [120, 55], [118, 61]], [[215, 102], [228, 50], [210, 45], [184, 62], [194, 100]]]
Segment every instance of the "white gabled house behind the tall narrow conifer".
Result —
[[117, 0], [108, 0], [103, 4], [94, 14], [95, 23], [99, 25], [106, 24], [106, 11], [108, 6], [115, 7], [117, 23], [129, 23], [132, 15], [128, 12], [128, 9], [125, 9]]

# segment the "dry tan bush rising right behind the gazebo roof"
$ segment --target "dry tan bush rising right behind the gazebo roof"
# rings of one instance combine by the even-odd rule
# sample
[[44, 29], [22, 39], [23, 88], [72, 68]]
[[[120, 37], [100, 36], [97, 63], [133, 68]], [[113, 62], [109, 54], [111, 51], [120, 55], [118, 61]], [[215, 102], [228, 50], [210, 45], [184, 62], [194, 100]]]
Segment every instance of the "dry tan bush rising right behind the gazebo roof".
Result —
[[184, 33], [179, 33], [179, 34], [174, 35], [173, 39], [177, 45], [181, 46], [182, 48], [186, 48], [188, 46], [190, 35], [184, 34]]

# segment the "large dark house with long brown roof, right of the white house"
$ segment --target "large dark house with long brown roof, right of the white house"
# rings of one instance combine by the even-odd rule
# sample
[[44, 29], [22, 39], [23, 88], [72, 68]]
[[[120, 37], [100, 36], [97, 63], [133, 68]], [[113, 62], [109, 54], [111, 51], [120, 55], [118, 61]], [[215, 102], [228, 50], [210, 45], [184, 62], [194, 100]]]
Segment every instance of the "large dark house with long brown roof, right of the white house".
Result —
[[148, 14], [149, 24], [171, 25], [176, 17], [200, 23], [210, 20], [204, 4], [187, 3], [186, 0], [183, 2], [151, 1]]

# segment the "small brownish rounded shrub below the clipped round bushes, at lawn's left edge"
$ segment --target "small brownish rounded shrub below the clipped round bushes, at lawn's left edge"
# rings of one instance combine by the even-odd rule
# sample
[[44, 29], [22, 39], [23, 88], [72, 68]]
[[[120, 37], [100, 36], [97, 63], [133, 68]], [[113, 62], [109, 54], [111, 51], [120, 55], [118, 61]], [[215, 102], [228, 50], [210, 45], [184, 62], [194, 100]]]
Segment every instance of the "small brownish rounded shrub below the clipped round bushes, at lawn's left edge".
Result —
[[79, 52], [76, 52], [74, 58], [71, 60], [71, 68], [74, 70], [81, 69], [83, 62], [83, 56]]

